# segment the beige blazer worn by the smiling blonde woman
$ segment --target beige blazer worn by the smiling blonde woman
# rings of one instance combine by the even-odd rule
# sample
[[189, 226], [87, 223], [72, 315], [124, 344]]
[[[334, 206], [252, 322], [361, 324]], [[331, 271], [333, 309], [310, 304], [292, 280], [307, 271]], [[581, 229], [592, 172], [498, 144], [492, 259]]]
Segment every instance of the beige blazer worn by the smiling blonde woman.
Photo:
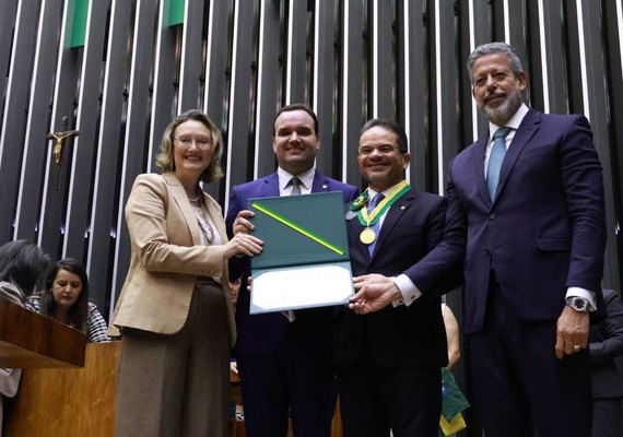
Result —
[[[219, 203], [203, 194], [222, 241], [227, 241]], [[126, 204], [132, 244], [130, 270], [119, 295], [108, 334], [124, 327], [174, 334], [188, 317], [197, 276], [219, 276], [227, 303], [232, 345], [236, 328], [224, 246], [202, 246], [199, 225], [186, 191], [177, 178], [144, 174], [134, 180]]]

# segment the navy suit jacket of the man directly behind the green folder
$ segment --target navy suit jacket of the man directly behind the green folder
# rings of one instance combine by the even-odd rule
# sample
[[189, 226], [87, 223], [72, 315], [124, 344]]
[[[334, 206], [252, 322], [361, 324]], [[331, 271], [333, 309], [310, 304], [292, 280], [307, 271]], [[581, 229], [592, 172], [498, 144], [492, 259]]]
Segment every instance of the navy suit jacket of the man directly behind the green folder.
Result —
[[[312, 192], [325, 191], [342, 191], [344, 202], [351, 201], [358, 194], [356, 187], [331, 179], [316, 172]], [[261, 179], [234, 187], [225, 220], [228, 235], [232, 235], [232, 226], [238, 212], [248, 209], [248, 199], [278, 196], [279, 177], [277, 172]], [[236, 275], [234, 272], [236, 272]], [[246, 275], [249, 272], [250, 263], [247, 259], [234, 260], [232, 277], [236, 277], [239, 273], [245, 273], [246, 281]], [[238, 342], [234, 351], [236, 355], [262, 355], [274, 352], [283, 341], [291, 324], [296, 330], [296, 335], [298, 335], [299, 341], [297, 344], [301, 345], [302, 353], [318, 349], [330, 352], [331, 308], [296, 310], [296, 322], [290, 323], [280, 312], [249, 315], [249, 293], [242, 290], [236, 307], [236, 327], [238, 329]]]

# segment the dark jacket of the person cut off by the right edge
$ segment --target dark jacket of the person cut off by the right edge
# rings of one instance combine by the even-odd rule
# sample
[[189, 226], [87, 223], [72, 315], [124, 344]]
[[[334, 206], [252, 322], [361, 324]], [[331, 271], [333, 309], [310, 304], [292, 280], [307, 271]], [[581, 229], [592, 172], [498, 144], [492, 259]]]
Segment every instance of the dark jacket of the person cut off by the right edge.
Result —
[[588, 335], [592, 363], [592, 398], [623, 397], [614, 357], [623, 355], [623, 303], [614, 290], [604, 290], [607, 317], [590, 327]]

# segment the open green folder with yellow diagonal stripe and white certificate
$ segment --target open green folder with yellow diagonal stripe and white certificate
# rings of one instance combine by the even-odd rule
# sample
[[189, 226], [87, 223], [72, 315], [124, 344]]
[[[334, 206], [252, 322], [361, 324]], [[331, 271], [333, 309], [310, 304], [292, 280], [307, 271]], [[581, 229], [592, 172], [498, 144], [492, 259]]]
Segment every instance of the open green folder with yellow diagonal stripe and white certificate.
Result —
[[249, 199], [262, 253], [251, 258], [250, 314], [348, 304], [354, 295], [340, 191]]

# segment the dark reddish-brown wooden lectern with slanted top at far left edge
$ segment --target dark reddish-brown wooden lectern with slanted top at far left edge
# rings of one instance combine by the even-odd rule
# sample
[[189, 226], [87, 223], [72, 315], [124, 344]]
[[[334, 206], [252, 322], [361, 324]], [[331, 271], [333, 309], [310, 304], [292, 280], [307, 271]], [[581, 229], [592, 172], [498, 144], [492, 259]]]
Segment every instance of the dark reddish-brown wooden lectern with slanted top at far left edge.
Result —
[[0, 367], [82, 367], [86, 334], [0, 297]]

